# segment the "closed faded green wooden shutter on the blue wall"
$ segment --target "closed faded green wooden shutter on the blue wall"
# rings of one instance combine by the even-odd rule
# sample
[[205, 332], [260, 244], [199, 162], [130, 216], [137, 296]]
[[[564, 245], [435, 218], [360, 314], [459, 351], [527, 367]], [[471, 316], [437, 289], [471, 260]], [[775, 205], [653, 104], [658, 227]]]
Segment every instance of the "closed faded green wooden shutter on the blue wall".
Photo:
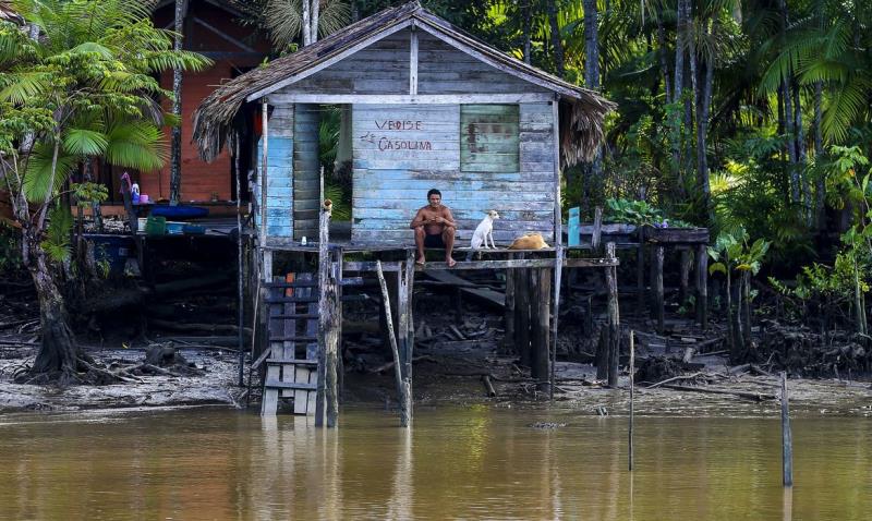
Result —
[[518, 172], [519, 121], [520, 110], [517, 105], [461, 105], [460, 170]]

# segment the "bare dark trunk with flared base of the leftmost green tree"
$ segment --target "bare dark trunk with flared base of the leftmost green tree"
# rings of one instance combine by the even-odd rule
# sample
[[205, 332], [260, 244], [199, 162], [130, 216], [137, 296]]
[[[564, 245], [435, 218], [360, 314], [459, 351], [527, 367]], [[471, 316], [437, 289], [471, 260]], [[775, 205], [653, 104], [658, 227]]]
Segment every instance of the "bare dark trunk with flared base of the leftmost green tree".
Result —
[[50, 374], [63, 381], [75, 375], [78, 349], [68, 324], [63, 296], [52, 278], [46, 252], [40, 246], [38, 237], [28, 232], [23, 241], [28, 243], [31, 253], [27, 269], [39, 300], [39, 324], [43, 332], [39, 353], [31, 373]]

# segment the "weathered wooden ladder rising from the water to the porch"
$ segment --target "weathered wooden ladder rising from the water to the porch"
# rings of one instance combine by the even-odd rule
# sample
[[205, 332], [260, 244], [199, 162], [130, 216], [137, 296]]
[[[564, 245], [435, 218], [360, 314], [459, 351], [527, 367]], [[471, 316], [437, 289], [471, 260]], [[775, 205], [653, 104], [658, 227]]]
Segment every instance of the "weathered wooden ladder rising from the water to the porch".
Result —
[[272, 415], [279, 398], [294, 414], [315, 415], [318, 379], [318, 288], [313, 274], [288, 274], [268, 282], [267, 349], [261, 414]]

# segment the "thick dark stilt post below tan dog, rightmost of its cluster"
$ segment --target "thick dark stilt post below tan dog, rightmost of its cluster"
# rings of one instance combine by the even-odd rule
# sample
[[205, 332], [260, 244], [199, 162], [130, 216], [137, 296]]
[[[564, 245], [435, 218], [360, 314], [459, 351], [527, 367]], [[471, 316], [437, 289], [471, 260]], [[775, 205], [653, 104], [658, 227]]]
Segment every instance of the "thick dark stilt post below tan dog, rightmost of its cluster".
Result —
[[538, 389], [550, 396], [550, 299], [552, 272], [548, 268], [531, 269], [531, 376], [538, 381]]

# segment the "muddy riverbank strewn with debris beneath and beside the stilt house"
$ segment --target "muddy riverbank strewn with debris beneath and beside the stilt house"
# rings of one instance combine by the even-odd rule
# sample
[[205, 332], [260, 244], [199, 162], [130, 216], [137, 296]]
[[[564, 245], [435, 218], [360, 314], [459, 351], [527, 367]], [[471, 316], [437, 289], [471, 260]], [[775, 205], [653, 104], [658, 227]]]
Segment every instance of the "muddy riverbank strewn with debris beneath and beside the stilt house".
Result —
[[[415, 296], [415, 403], [529, 407], [547, 402], [542, 383], [507, 348], [501, 306], [493, 298], [501, 281], [493, 274], [468, 280], [487, 291], [482, 298], [464, 295], [459, 311], [453, 287], [435, 282], [417, 284]], [[220, 286], [156, 299], [136, 319], [88, 320], [82, 332], [86, 352], [117, 381], [58, 389], [14, 383], [38, 347], [38, 310], [26, 281], [5, 284], [0, 298], [0, 410], [244, 405], [257, 398], [257, 374], [253, 375], [254, 396], [237, 385], [235, 310], [232, 295]], [[367, 300], [346, 305], [343, 400], [393, 407], [393, 362], [379, 332], [378, 306], [372, 305], [378, 295], [374, 286], [364, 292]], [[609, 389], [596, 374], [596, 343], [604, 319], [595, 312], [602, 306], [590, 304], [596, 298], [572, 291], [562, 306], [556, 405], [585, 414], [622, 414], [628, 409], [627, 392]], [[701, 331], [692, 319], [677, 316], [656, 335], [649, 332], [653, 323], [632, 307], [633, 301], [622, 299], [622, 352], [628, 352], [632, 329], [640, 414], [772, 414], [777, 372], [787, 362], [794, 409], [810, 414], [872, 415], [869, 383], [855, 380], [862, 364], [853, 365], [856, 371], [838, 369], [846, 360], [865, 356], [849, 336], [831, 335], [829, 348], [815, 348], [814, 334], [764, 320], [755, 362], [729, 366], [720, 325]], [[627, 362], [625, 354], [621, 388], [628, 385]], [[800, 379], [802, 374], [831, 379]]]

